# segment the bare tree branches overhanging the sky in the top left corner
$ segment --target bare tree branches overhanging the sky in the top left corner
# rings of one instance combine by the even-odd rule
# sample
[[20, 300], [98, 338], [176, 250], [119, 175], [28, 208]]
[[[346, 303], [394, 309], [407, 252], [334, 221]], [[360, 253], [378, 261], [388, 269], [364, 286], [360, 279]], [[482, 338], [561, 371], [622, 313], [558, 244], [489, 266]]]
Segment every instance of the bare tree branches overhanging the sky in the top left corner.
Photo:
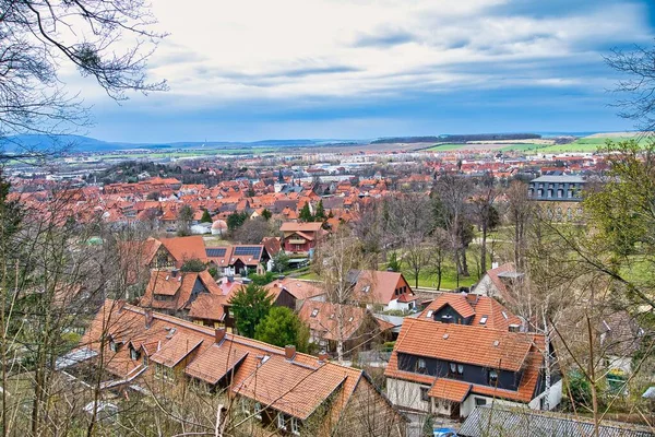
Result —
[[[154, 24], [144, 0], [1, 0], [0, 138], [66, 133], [88, 122], [58, 79], [67, 63], [115, 99], [127, 98], [128, 91], [165, 90], [165, 82], [148, 83], [145, 75], [146, 60], [164, 36]], [[14, 146], [14, 158], [44, 153], [37, 144]]]

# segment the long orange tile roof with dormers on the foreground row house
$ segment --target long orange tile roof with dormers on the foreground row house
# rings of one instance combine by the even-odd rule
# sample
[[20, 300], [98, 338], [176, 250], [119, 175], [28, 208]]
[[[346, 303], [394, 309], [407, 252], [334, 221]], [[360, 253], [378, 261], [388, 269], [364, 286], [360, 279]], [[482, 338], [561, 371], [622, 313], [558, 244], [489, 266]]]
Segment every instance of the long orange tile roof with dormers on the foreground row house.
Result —
[[[301, 353], [287, 359], [284, 349], [239, 335], [225, 333], [224, 340], [216, 345], [214, 329], [171, 316], [154, 312], [150, 328], [146, 328], [143, 309], [131, 305], [119, 307], [114, 300], [105, 302], [83, 335], [81, 346], [97, 351], [103, 332], [109, 326], [121, 332], [123, 339], [143, 342], [142, 350], [152, 354], [153, 362], [174, 365], [188, 357], [184, 363], [190, 376], [213, 381], [221, 379], [228, 369], [234, 376], [230, 385], [234, 393], [300, 420], [306, 420], [323, 404], [330, 409], [330, 417], [338, 420], [355, 388], [368, 383], [362, 378], [362, 370], [321, 363], [317, 357]], [[106, 362], [107, 369], [120, 378], [141, 366], [140, 362], [130, 359], [128, 347], [114, 353], [105, 344], [105, 353], [99, 357]], [[152, 377], [152, 367], [148, 366], [140, 378]], [[381, 394], [374, 394], [384, 400]], [[332, 402], [325, 403], [329, 399]]]

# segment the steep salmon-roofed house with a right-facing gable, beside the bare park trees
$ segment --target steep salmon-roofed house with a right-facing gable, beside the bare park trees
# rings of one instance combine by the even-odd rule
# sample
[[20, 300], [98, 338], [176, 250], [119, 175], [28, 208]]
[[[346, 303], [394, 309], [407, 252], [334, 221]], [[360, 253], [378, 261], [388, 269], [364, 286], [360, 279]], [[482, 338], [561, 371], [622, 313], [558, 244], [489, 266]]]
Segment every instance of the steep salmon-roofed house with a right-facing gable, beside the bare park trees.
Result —
[[403, 276], [403, 273], [379, 270], [354, 270], [349, 272], [353, 284], [352, 300], [366, 304], [369, 309], [377, 307], [383, 311], [416, 309], [418, 297]]

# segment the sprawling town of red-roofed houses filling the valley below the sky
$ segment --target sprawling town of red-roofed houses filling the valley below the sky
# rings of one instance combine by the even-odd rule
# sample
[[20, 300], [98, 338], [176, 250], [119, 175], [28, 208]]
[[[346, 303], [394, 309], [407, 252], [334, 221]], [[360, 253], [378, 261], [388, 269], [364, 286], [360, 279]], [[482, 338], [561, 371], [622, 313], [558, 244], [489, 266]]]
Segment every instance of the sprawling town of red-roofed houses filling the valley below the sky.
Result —
[[[623, 154], [638, 144], [619, 141]], [[648, 321], [590, 302], [573, 285], [587, 273], [545, 287], [552, 272], [534, 263], [548, 256], [529, 247], [584, 227], [586, 192], [611, 175], [608, 144], [126, 161], [106, 182], [14, 173], [5, 201], [76, 259], [24, 293], [67, 332], [55, 368], [83, 402], [74, 413], [109, 429], [126, 402], [153, 414], [151, 397], [174, 422], [211, 421], [219, 402], [243, 435], [483, 436], [489, 409], [590, 428], [571, 416], [588, 402], [579, 366], [592, 358], [573, 352], [588, 341], [606, 387], [595, 395], [623, 421], [600, 428], [645, 436], [620, 405], [652, 393]]]

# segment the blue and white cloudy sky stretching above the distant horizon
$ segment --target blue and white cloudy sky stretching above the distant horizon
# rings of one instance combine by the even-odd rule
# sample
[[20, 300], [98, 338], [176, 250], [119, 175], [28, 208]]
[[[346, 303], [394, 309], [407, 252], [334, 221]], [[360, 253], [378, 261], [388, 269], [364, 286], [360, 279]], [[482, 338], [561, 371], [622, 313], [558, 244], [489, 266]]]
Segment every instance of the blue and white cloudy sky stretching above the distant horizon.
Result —
[[[92, 137], [367, 139], [631, 128], [603, 55], [655, 44], [651, 0], [155, 0], [165, 94], [82, 86]], [[192, 7], [191, 7], [192, 4]], [[76, 82], [75, 82], [76, 83]], [[76, 83], [78, 84], [78, 83]]]

